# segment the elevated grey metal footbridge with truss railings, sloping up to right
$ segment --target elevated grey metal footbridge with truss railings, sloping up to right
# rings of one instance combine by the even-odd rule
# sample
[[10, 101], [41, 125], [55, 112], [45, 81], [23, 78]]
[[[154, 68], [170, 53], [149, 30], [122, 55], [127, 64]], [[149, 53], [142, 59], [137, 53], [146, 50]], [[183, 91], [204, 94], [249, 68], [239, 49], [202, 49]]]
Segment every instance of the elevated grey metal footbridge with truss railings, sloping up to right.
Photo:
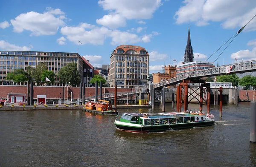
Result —
[[238, 73], [245, 73], [245, 72], [252, 72], [256, 71], [256, 60], [251, 60], [247, 62], [239, 62], [230, 65], [222, 65], [219, 67], [208, 68], [204, 70], [195, 70], [180, 76], [176, 76], [174, 78], [168, 79], [163, 82], [158, 82], [154, 84], [155, 89], [161, 89], [163, 87], [175, 85], [183, 81], [183, 79], [200, 79], [202, 77], [209, 77], [209, 76], [219, 76], [219, 75], [226, 75], [226, 74], [238, 74]]

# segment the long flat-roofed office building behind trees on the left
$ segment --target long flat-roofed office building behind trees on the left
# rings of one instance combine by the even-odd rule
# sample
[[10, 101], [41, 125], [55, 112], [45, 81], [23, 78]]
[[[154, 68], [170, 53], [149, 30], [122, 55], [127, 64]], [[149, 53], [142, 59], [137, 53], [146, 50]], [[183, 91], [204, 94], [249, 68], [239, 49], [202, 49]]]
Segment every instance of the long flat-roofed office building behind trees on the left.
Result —
[[[15, 69], [27, 66], [36, 68], [40, 63], [46, 63], [49, 71], [56, 74], [52, 85], [61, 86], [57, 79], [58, 71], [70, 62], [77, 63], [77, 69], [80, 74], [80, 80], [83, 79], [83, 64], [81, 56], [78, 53], [67, 52], [46, 52], [46, 51], [0, 51], [0, 85], [12, 85], [6, 80], [6, 74]], [[25, 85], [25, 83], [24, 83]]]

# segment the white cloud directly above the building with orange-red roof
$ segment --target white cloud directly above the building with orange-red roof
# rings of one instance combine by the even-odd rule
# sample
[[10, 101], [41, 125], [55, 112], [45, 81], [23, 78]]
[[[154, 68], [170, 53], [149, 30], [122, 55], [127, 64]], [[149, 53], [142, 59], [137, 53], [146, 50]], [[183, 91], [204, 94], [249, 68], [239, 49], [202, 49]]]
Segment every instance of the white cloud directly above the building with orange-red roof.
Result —
[[136, 43], [136, 42], [140, 42], [141, 40], [137, 34], [132, 34], [129, 32], [123, 32], [119, 30], [112, 31], [110, 36], [112, 37], [111, 45]]

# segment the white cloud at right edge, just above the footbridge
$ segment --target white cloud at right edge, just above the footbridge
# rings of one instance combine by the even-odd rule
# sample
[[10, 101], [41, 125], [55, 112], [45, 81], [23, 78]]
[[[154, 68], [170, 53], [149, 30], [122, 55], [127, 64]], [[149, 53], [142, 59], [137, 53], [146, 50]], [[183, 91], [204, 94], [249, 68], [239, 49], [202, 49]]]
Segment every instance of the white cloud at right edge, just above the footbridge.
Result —
[[244, 61], [249, 61], [255, 59], [256, 55], [256, 39], [255, 40], [250, 40], [247, 42], [247, 45], [253, 46], [253, 49], [250, 51], [249, 49], [247, 50], [240, 50], [236, 53], [231, 54], [230, 58], [231, 59], [243, 59]]

